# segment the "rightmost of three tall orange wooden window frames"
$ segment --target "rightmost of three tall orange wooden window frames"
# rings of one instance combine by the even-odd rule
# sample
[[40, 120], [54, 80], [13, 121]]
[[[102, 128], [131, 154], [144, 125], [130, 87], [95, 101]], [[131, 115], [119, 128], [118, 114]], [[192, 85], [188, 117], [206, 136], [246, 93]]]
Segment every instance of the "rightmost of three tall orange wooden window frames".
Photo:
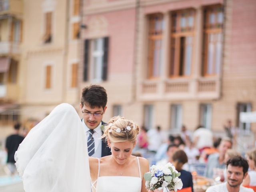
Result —
[[[214, 24], [210, 24], [209, 22], [210, 13], [214, 12], [214, 16], [218, 18], [218, 13], [220, 12], [220, 10], [222, 10], [222, 14], [223, 14], [223, 7], [222, 5], [219, 5], [219, 4], [204, 8], [204, 30], [203, 30], [204, 42], [203, 42], [203, 56], [202, 56], [202, 60], [203, 60], [202, 76], [216, 76], [218, 74], [218, 72], [216, 72], [216, 67], [217, 67], [216, 57], [214, 57], [216, 53], [216, 42], [218, 41], [215, 41], [214, 43], [214, 54], [213, 54], [213, 71], [214, 72], [208, 73], [208, 44], [209, 44], [208, 38], [210, 35], [217, 35], [217, 34], [220, 34], [221, 35], [220, 38], [223, 38], [222, 37], [223, 19], [222, 19], [222, 23], [215, 22]], [[222, 42], [220, 41], [220, 43]], [[221, 50], [220, 56], [222, 56], [222, 50]], [[221, 62], [219, 65], [221, 66]]]

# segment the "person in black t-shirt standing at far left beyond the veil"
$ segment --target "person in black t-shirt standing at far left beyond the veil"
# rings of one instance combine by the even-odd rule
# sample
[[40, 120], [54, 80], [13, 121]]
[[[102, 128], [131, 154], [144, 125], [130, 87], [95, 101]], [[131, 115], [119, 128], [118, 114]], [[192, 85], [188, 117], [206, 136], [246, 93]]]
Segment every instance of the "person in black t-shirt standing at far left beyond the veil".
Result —
[[12, 175], [16, 173], [14, 154], [20, 143], [24, 140], [24, 137], [19, 135], [20, 126], [20, 123], [16, 123], [14, 125], [14, 133], [6, 138], [5, 143], [5, 149], [7, 152], [7, 167]]

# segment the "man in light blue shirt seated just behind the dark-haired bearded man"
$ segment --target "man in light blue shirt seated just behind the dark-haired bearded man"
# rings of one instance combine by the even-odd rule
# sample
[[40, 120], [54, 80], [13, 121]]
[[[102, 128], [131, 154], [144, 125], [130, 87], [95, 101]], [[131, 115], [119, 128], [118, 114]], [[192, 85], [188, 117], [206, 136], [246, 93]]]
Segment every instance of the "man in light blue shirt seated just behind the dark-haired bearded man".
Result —
[[226, 151], [232, 148], [232, 141], [230, 138], [223, 138], [220, 142], [219, 152], [211, 154], [206, 164], [206, 177], [215, 178], [221, 176], [225, 168], [224, 157]]

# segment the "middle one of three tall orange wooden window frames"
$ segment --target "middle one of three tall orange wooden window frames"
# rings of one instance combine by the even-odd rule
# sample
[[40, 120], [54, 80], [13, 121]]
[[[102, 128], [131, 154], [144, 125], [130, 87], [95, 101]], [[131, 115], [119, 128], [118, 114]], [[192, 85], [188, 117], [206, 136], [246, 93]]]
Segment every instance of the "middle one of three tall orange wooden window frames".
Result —
[[[187, 14], [186, 18], [186, 27], [182, 28], [180, 26], [180, 20], [182, 14]], [[189, 26], [188, 18], [192, 16], [193, 22], [192, 26]], [[194, 50], [194, 35], [195, 35], [195, 16], [196, 10], [194, 9], [185, 9], [172, 12], [171, 14], [171, 34], [170, 34], [170, 78], [188, 78], [192, 73], [193, 66], [193, 50]], [[190, 74], [186, 75], [185, 65], [186, 65], [186, 38], [192, 37], [192, 53], [190, 60]], [[184, 40], [184, 48], [181, 48], [181, 41]]]

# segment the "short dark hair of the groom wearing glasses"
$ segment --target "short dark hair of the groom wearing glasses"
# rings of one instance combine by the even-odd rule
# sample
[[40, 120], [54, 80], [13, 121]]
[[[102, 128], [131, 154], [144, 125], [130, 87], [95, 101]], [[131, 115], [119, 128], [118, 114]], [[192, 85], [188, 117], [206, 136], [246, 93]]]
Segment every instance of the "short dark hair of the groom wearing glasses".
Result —
[[105, 108], [108, 101], [106, 89], [100, 85], [90, 85], [82, 90], [81, 104], [88, 104], [91, 108]]

